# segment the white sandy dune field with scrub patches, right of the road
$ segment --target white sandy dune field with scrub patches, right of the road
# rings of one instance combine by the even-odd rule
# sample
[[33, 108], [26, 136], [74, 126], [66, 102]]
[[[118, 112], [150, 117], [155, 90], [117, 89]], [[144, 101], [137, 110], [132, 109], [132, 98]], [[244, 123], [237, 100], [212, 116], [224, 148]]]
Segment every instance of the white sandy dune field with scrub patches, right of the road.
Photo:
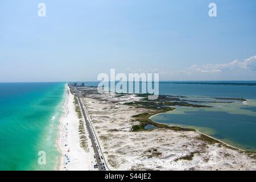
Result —
[[109, 167], [113, 170], [256, 170], [255, 154], [209, 142], [197, 131], [132, 132], [131, 117], [146, 109], [123, 105], [137, 96], [80, 88]]

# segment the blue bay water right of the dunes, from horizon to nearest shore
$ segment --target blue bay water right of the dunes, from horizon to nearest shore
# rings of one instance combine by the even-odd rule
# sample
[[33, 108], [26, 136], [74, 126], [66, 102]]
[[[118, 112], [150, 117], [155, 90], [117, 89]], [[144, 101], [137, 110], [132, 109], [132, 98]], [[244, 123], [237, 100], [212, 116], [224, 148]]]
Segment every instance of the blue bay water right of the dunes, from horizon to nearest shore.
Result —
[[155, 122], [193, 128], [234, 147], [256, 151], [255, 82], [164, 82], [159, 88], [160, 94], [212, 107], [176, 106], [175, 111], [151, 117]]

